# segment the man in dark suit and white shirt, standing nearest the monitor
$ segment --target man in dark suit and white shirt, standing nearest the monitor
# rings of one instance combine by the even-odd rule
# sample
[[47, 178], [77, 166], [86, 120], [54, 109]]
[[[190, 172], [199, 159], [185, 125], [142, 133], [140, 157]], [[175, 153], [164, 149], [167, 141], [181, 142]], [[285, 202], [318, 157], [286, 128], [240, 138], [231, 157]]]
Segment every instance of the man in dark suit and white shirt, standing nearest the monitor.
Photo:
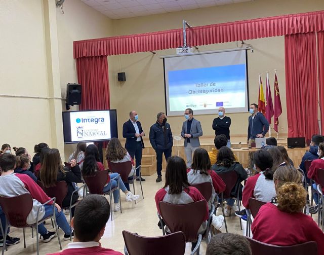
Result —
[[[136, 160], [136, 168], [141, 165], [142, 150], [144, 149], [142, 125], [138, 120], [138, 115], [135, 111], [130, 112], [130, 119], [123, 125], [123, 137], [126, 138], [125, 149]], [[136, 169], [136, 180], [139, 179], [140, 169]], [[141, 181], [145, 179], [141, 177]]]

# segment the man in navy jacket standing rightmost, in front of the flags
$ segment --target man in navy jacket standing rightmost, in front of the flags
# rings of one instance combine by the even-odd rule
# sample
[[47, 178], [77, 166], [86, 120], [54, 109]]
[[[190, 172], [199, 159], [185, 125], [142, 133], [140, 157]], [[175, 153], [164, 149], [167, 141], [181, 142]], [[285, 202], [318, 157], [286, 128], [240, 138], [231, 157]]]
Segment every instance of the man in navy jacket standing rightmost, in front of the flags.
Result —
[[269, 122], [262, 113], [258, 112], [258, 105], [252, 103], [250, 105], [249, 127], [248, 127], [248, 141], [249, 147], [251, 143], [255, 142], [255, 138], [264, 137], [269, 130]]

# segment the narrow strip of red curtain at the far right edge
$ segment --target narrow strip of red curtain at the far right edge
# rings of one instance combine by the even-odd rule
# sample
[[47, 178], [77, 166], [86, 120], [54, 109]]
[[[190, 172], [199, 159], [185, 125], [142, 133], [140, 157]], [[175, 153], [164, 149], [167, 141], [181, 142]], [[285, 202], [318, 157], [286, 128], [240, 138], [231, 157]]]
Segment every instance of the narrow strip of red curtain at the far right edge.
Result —
[[319, 105], [321, 109], [320, 126], [321, 134], [324, 134], [324, 32], [317, 33], [318, 45], [318, 84], [319, 84]]

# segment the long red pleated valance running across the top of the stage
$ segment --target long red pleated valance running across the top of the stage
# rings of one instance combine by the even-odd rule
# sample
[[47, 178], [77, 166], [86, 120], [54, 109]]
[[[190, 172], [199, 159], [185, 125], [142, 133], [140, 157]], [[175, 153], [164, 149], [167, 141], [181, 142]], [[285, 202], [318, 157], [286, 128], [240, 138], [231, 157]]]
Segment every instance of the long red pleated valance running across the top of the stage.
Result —
[[[324, 11], [197, 26], [187, 29], [190, 46], [324, 31]], [[172, 49], [182, 46], [182, 29], [73, 42], [74, 58]]]

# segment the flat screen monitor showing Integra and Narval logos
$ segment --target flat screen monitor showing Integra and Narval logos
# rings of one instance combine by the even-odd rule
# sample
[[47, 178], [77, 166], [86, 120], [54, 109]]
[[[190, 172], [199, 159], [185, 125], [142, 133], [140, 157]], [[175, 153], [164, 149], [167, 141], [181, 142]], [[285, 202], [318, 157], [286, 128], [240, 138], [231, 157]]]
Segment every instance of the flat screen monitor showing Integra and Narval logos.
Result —
[[63, 112], [64, 143], [118, 137], [116, 110]]

